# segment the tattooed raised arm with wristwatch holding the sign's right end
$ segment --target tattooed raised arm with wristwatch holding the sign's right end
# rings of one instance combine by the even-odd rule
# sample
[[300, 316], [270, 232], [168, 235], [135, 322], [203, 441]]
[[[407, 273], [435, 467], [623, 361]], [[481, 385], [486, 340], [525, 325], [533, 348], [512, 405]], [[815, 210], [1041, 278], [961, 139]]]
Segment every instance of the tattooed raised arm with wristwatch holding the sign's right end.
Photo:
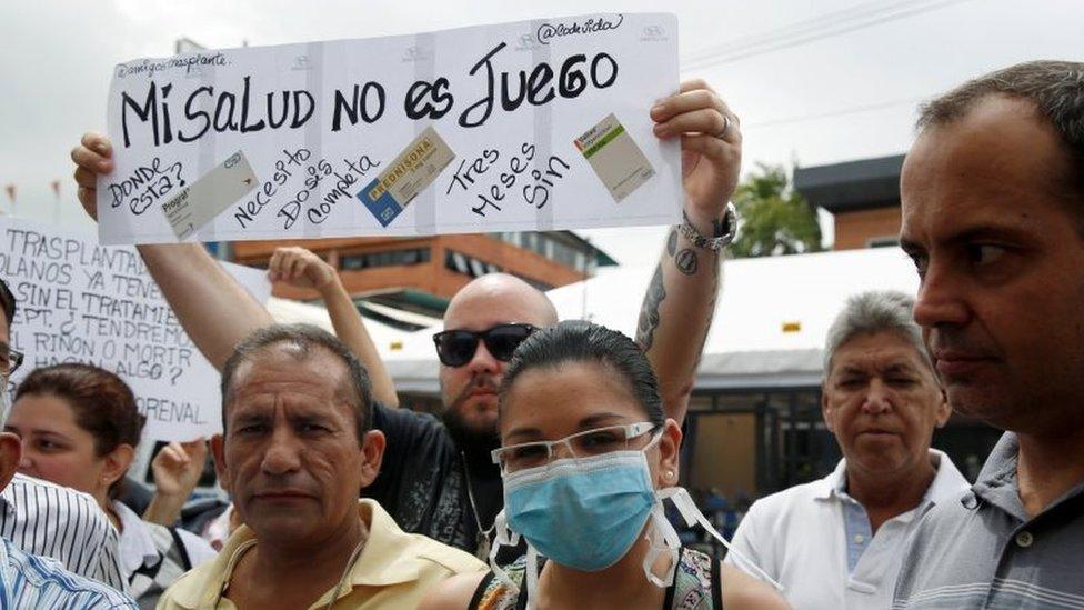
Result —
[[[741, 171], [737, 117], [707, 83], [693, 80], [660, 100], [651, 118], [655, 136], [681, 138], [687, 228], [707, 239], [725, 234], [736, 221], [726, 214], [726, 206]], [[722, 253], [694, 243], [687, 233], [675, 227], [666, 236], [636, 329], [636, 341], [659, 378], [666, 414], [679, 423], [689, 409], [722, 283]]]

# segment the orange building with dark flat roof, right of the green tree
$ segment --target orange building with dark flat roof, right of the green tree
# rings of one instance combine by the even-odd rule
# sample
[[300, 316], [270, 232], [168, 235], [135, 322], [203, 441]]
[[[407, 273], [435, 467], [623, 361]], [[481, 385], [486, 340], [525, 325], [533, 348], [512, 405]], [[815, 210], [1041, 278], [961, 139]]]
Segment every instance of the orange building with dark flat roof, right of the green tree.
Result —
[[903, 154], [799, 168], [794, 188], [832, 213], [835, 250], [900, 244], [900, 170]]

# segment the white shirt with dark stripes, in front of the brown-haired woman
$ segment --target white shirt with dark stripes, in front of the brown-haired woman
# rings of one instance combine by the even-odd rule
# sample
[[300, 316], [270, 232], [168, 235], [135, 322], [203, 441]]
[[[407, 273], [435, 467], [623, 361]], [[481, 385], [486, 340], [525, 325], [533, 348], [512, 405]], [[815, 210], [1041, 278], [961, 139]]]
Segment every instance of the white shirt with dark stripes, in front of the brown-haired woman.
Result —
[[127, 591], [117, 530], [86, 493], [16, 474], [0, 492], [0, 536], [28, 553], [53, 558], [77, 574]]

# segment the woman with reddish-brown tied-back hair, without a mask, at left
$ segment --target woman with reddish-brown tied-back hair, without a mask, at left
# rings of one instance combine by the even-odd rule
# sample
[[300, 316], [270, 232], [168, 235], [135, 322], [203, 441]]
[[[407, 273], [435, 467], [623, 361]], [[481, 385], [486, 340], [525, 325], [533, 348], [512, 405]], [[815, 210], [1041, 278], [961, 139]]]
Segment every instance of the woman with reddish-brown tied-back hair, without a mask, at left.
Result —
[[37, 369], [16, 391], [6, 430], [22, 438], [19, 472], [89, 493], [120, 533], [122, 573], [140, 608], [214, 550], [195, 534], [140, 520], [116, 498], [143, 429], [131, 389], [90, 364]]

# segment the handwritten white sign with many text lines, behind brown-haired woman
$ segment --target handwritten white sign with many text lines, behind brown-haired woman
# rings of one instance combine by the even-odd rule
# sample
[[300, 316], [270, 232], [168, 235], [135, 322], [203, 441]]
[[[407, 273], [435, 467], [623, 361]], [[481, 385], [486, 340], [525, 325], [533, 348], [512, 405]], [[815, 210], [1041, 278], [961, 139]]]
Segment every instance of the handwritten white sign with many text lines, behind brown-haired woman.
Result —
[[[223, 263], [260, 302], [263, 271]], [[184, 333], [134, 248], [0, 216], [0, 278], [16, 298], [12, 376], [88, 362], [120, 376], [147, 416], [143, 438], [189, 440], [222, 429], [219, 373]], [[209, 316], [213, 312], [208, 312]]]

